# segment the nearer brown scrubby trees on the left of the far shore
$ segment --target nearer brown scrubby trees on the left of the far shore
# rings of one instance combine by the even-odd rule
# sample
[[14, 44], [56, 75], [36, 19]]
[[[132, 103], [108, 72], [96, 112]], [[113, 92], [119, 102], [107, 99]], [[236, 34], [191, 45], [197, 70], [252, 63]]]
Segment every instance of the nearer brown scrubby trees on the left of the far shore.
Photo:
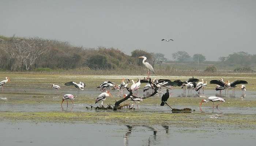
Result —
[[134, 50], [126, 55], [114, 48], [86, 49], [71, 46], [68, 42], [41, 38], [0, 36], [0, 69], [33, 70], [35, 68], [93, 70], [135, 69], [142, 66], [139, 56], [146, 55], [153, 66], [166, 60], [164, 54]]

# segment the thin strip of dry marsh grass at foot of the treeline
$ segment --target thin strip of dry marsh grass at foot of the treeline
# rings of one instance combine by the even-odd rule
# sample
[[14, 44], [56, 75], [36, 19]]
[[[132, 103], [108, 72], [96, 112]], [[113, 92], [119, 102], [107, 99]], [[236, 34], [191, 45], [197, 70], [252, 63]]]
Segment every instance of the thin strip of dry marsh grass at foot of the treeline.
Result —
[[[0, 74], [67, 74], [67, 75], [141, 75], [146, 76], [147, 70], [145, 68], [136, 69], [116, 69], [116, 70], [91, 70], [89, 68], [76, 68], [72, 70], [51, 70], [39, 69], [29, 72], [10, 72], [0, 70]], [[231, 70], [219, 70], [211, 73], [204, 70], [175, 70], [175, 69], [156, 69], [156, 73], [150, 73], [152, 76], [256, 76], [256, 73], [236, 73]]]

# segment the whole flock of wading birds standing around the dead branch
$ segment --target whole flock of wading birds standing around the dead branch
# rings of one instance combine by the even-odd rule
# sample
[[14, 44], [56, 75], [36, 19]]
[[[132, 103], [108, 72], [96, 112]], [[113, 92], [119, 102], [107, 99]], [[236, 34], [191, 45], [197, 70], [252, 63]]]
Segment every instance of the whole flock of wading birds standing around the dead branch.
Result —
[[[151, 97], [151, 96], [154, 96], [157, 94], [162, 94], [160, 105], [163, 106], [163, 105], [167, 104], [167, 100], [170, 96], [169, 90], [173, 89], [173, 87], [181, 87], [183, 89], [184, 93], [186, 92], [186, 89], [188, 89], [188, 93], [192, 93], [192, 90], [195, 90], [200, 95], [200, 91], [201, 90], [204, 91], [204, 88], [207, 86], [207, 82], [204, 82], [203, 79], [200, 81], [199, 79], [194, 78], [194, 77], [189, 78], [187, 81], [181, 81], [181, 80], [171, 81], [168, 79], [153, 79], [153, 80], [151, 80], [150, 72], [155, 73], [155, 70], [148, 62], [145, 62], [147, 57], [141, 56], [139, 58], [143, 58], [142, 63], [146, 66], [146, 68], [148, 70], [147, 78], [138, 79], [138, 81], [136, 81], [136, 82], [133, 80], [130, 81], [128, 78], [125, 81], [125, 79], [123, 78], [123, 80], [121, 81], [121, 84], [116, 84], [111, 81], [104, 81], [97, 87], [97, 89], [99, 91], [101, 91], [102, 93], [96, 98], [95, 104], [98, 103], [99, 101], [101, 101], [99, 106], [103, 107], [103, 101], [106, 100], [106, 97], [109, 97], [109, 96], [112, 97], [112, 95], [110, 93], [110, 89], [112, 89], [112, 90], [118, 90], [119, 96], [123, 97], [121, 100], [116, 101], [116, 103], [113, 105], [114, 110], [116, 110], [118, 108], [118, 106], [120, 105], [120, 103], [124, 102], [125, 100], [133, 101], [133, 104], [136, 104], [138, 107], [138, 104], [136, 103], [136, 101], [143, 101], [143, 99], [146, 99], [148, 97]], [[10, 81], [10, 78], [6, 77], [6, 80], [3, 80], [0, 82], [0, 87], [2, 87], [2, 92], [3, 92], [3, 86], [8, 81]], [[139, 91], [139, 88], [142, 83], [146, 83], [146, 85], [143, 88], [143, 92], [146, 93], [146, 96], [139, 97], [138, 91]], [[131, 84], [130, 87], [128, 87], [129, 84]], [[234, 93], [235, 88], [239, 84], [248, 84], [248, 82], [243, 81], [243, 80], [236, 80], [233, 82], [230, 82], [230, 81], [224, 82], [223, 79], [221, 78], [220, 80], [211, 80], [210, 84], [217, 84], [217, 87], [215, 88], [215, 90], [220, 91], [220, 93], [222, 90], [225, 90], [225, 94], [226, 94], [226, 92], [227, 93], [229, 92], [229, 89], [232, 89], [233, 93]], [[74, 86], [75, 88], [77, 88], [78, 94], [79, 94], [79, 91], [84, 90], [84, 87], [86, 86], [84, 84], [84, 82], [76, 83], [74, 81], [66, 82], [64, 85], [65, 86]], [[54, 84], [52, 84], [52, 88], [56, 89], [56, 91], [58, 89], [61, 89], [59, 85], [54, 85]], [[129, 92], [128, 95], [123, 94], [124, 89], [127, 89], [127, 91]], [[240, 85], [240, 89], [242, 90], [243, 93], [245, 93], [245, 91], [246, 91], [245, 85]], [[166, 91], [166, 92], [163, 93], [163, 91]], [[136, 93], [133, 93], [133, 92], [136, 92]], [[62, 98], [61, 107], [62, 107], [64, 100], [67, 100], [67, 106], [68, 106], [68, 99], [71, 100], [72, 105], [74, 105], [73, 99], [75, 99], [75, 97], [71, 94], [65, 94]], [[202, 99], [202, 101], [200, 103], [200, 107], [203, 102], [209, 102], [209, 101], [212, 102], [212, 109], [213, 109], [215, 101], [220, 101], [219, 104], [221, 104], [221, 103], [225, 102], [225, 99], [223, 99], [221, 97], [217, 97], [217, 96], [210, 96], [210, 97], [208, 97], [207, 100]], [[127, 104], [127, 105], [129, 105], [130, 109], [134, 109], [133, 104], [131, 104], [131, 105]], [[216, 106], [216, 108], [218, 108], [218, 105]], [[128, 108], [128, 106], [127, 106], [127, 108]]]

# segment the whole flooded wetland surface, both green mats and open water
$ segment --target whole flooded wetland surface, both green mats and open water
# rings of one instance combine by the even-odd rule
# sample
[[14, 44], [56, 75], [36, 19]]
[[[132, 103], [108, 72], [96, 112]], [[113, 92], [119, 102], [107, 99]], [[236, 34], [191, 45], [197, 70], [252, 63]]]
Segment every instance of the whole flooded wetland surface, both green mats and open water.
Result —
[[[79, 144], [87, 142], [97, 145], [182, 145], [193, 142], [192, 145], [197, 145], [198, 139], [214, 144], [232, 139], [233, 141], [229, 141], [230, 145], [240, 145], [243, 139], [248, 141], [248, 145], [255, 142], [256, 76], [229, 76], [229, 80], [247, 80], [248, 91], [243, 95], [240, 89], [236, 89], [234, 95], [222, 95], [226, 102], [219, 109], [215, 108], [213, 113], [211, 103], [203, 104], [200, 111], [199, 102], [219, 93], [214, 91], [214, 85], [208, 85], [200, 97], [195, 92], [192, 95], [183, 94], [182, 89], [178, 87], [170, 90], [168, 103], [173, 108], [188, 107], [195, 110], [192, 113], [172, 113], [166, 105], [160, 107], [161, 97], [158, 95], [138, 103], [139, 109], [113, 111], [90, 109], [84, 102], [95, 105], [94, 101], [101, 93], [96, 87], [102, 81], [119, 83], [123, 77], [132, 79], [143, 76], [0, 73], [0, 78], [6, 76], [11, 78], [11, 82], [5, 85], [4, 92], [0, 92], [0, 127], [3, 133], [6, 133], [0, 134], [0, 143], [4, 145], [56, 144], [56, 139], [61, 139], [60, 135], [64, 131], [74, 134]], [[153, 78], [176, 80], [189, 77]], [[197, 78], [210, 81], [220, 77]], [[64, 87], [64, 83], [68, 81], [83, 81], [86, 84], [84, 91], [75, 98], [72, 109], [60, 106], [64, 94], [76, 95], [75, 88]], [[54, 91], [50, 88], [51, 84], [60, 85], [61, 90]], [[117, 91], [112, 91], [112, 95], [113, 99], [109, 97], [104, 102], [114, 104], [114, 99], [121, 99]], [[143, 91], [140, 90], [139, 95], [143, 95]], [[30, 138], [20, 135], [22, 132], [30, 134]], [[11, 133], [20, 136], [11, 139]], [[96, 139], [95, 135], [102, 135], [101, 140]], [[188, 141], [181, 142], [181, 137], [187, 137]], [[42, 139], [49, 141], [42, 142]], [[65, 145], [74, 142], [64, 139], [61, 143]]]

